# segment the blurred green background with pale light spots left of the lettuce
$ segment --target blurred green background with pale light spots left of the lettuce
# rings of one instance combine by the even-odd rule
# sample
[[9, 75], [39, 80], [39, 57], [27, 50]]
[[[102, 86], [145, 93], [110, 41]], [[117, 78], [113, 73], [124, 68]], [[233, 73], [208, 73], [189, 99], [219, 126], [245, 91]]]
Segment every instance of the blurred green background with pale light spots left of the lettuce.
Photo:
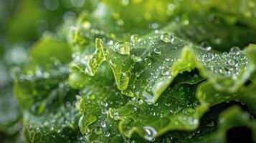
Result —
[[11, 67], [25, 64], [29, 46], [45, 31], [54, 32], [62, 23], [92, 11], [88, 0], [0, 1], [0, 142], [24, 142], [22, 113], [12, 93]]

